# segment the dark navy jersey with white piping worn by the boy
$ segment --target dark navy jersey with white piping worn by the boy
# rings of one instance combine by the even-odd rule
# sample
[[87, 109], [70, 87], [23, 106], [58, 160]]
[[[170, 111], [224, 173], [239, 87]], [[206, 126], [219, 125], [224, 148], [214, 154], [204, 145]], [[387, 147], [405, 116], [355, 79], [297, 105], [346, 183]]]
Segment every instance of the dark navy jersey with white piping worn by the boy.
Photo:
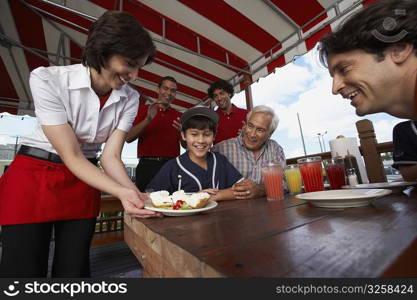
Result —
[[242, 175], [224, 155], [208, 152], [205, 170], [190, 159], [187, 151], [165, 163], [148, 184], [147, 190], [166, 190], [173, 193], [178, 190], [178, 175], [182, 177], [180, 189], [186, 193], [210, 188], [223, 190], [242, 179]]

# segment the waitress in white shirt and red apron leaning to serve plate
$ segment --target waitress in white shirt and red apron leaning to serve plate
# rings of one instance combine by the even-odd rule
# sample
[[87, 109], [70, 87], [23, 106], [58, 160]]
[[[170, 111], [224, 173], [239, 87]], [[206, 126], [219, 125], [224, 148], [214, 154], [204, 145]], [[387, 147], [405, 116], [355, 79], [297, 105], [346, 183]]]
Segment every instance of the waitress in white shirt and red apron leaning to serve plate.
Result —
[[[143, 209], [148, 196], [121, 160], [139, 105], [126, 83], [154, 53], [133, 16], [108, 11], [89, 31], [82, 64], [31, 72], [38, 126], [0, 178], [1, 277], [46, 277], [52, 233], [52, 277], [89, 277], [99, 190], [119, 198], [128, 214], [158, 216]], [[101, 172], [95, 164], [104, 142]]]

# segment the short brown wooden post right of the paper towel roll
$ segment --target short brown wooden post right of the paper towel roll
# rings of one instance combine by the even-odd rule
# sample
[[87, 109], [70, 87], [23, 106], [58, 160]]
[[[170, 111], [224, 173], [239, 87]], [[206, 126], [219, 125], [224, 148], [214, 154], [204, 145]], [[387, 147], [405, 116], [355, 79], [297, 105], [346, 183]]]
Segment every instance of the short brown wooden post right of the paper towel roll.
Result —
[[366, 172], [370, 183], [386, 182], [380, 153], [377, 149], [377, 140], [374, 126], [368, 119], [356, 122], [356, 129], [361, 143], [361, 152], [365, 160]]

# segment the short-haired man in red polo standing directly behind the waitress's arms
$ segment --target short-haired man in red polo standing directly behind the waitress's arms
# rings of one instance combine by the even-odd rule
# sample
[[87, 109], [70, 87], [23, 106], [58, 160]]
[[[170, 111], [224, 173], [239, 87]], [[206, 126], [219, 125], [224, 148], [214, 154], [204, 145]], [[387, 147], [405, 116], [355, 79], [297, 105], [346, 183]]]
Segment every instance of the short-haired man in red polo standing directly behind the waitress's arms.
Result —
[[126, 137], [128, 143], [138, 139], [136, 186], [142, 192], [168, 160], [180, 155], [181, 113], [170, 106], [177, 93], [175, 78], [163, 77], [157, 93], [157, 101], [139, 106], [136, 119]]

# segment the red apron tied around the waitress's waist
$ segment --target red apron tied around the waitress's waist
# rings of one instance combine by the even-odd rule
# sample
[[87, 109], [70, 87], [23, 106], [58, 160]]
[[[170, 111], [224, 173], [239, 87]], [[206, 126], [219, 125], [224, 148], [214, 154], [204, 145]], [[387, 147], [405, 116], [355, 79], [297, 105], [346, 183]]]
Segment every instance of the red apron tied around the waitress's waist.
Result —
[[64, 165], [17, 155], [0, 177], [0, 225], [97, 217], [100, 192]]

